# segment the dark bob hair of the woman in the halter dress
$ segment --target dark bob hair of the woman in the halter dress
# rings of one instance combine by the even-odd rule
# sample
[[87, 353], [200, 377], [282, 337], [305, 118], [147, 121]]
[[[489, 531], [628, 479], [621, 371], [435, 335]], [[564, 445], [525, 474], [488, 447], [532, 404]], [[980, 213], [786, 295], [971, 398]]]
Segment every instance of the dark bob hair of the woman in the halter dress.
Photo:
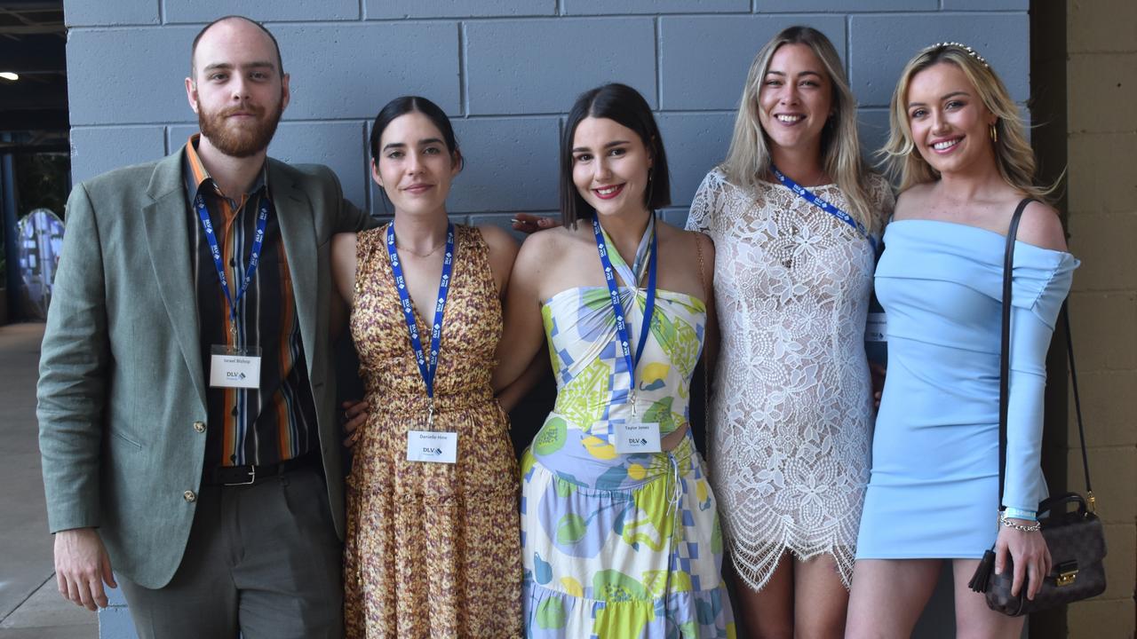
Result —
[[565, 130], [561, 136], [561, 219], [565, 226], [575, 226], [581, 218], [596, 215], [572, 181], [572, 143], [576, 126], [586, 117], [608, 118], [621, 126], [631, 128], [640, 136], [652, 157], [652, 180], [644, 192], [644, 206], [648, 210], [671, 204], [671, 180], [667, 172], [667, 155], [663, 151], [663, 135], [652, 116], [652, 107], [638, 91], [626, 84], [605, 84], [581, 93], [568, 111]]

